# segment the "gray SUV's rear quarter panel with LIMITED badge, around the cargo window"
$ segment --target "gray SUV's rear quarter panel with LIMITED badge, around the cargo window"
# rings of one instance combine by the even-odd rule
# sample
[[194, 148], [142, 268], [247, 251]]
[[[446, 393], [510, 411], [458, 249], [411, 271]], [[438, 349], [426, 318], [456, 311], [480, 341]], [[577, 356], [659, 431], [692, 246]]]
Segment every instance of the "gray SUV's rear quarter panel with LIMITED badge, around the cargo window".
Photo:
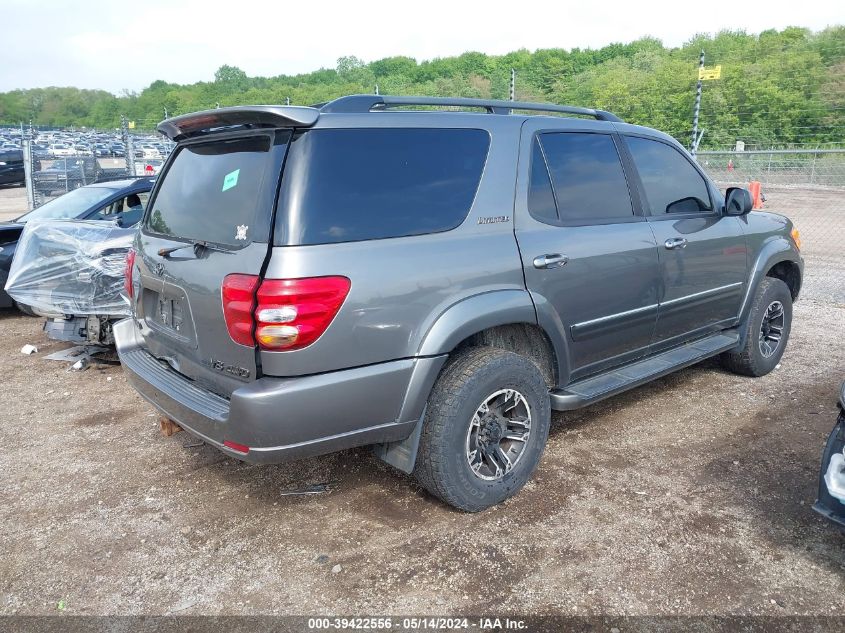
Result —
[[[320, 118], [320, 127], [467, 127], [488, 130], [490, 151], [475, 200], [451, 231], [314, 246], [273, 248], [265, 276], [344, 275], [346, 301], [315, 343], [292, 352], [260, 353], [262, 371], [295, 376], [368, 365], [420, 354], [427, 334], [450, 307], [501, 290], [525, 293], [513, 234], [519, 120], [442, 113], [380, 113]], [[481, 217], [508, 221], [479, 224]], [[531, 311], [533, 317], [533, 311]]]

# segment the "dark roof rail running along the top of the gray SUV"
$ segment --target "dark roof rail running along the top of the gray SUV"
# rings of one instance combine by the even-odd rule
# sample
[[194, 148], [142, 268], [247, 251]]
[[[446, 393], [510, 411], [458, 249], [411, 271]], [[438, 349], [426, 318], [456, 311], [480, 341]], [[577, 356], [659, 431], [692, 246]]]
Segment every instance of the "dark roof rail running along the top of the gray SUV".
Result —
[[592, 108], [555, 105], [553, 103], [529, 103], [526, 101], [503, 101], [500, 99], [470, 99], [467, 97], [392, 97], [389, 95], [349, 95], [328, 103], [317, 104], [326, 113], [364, 113], [371, 110], [386, 110], [396, 106], [456, 106], [463, 108], [483, 108], [490, 114], [510, 114], [512, 110], [532, 110], [536, 112], [560, 112], [579, 114], [599, 121], [622, 122], [615, 114]]

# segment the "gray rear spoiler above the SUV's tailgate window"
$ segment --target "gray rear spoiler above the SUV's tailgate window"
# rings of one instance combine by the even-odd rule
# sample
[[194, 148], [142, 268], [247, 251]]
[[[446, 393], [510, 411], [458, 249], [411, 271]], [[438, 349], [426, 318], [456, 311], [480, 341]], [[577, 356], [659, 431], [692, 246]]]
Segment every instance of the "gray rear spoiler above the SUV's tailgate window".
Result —
[[234, 127], [310, 127], [319, 117], [319, 110], [303, 106], [235, 106], [165, 119], [156, 129], [172, 141], [183, 141]]

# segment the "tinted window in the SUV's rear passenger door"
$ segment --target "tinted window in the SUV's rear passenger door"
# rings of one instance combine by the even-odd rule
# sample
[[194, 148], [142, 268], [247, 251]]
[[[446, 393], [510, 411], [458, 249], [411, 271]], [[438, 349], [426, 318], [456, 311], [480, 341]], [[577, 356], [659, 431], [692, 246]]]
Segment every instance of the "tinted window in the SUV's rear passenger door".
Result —
[[[611, 135], [546, 133], [540, 135], [540, 142], [562, 223], [606, 224], [634, 217], [628, 183]], [[543, 186], [542, 179], [540, 183]]]

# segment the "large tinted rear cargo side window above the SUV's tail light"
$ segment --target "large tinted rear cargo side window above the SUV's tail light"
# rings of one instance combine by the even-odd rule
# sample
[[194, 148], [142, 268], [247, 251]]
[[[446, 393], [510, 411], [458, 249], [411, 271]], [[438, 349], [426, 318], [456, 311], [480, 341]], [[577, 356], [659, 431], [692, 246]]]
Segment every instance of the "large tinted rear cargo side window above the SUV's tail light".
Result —
[[276, 244], [448, 231], [466, 218], [487, 159], [483, 130], [312, 130], [291, 142]]

